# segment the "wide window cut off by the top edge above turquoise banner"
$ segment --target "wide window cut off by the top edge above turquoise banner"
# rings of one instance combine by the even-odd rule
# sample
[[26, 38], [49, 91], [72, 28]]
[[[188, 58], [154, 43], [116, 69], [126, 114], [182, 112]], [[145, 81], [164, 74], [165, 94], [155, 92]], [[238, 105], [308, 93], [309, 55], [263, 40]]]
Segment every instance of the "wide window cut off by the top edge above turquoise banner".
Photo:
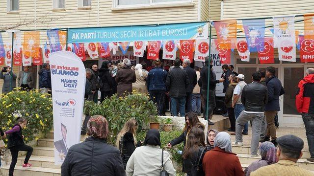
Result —
[[192, 2], [192, 0], [116, 0], [117, 6], [124, 5], [156, 5], [156, 4], [171, 4], [171, 3], [183, 3]]

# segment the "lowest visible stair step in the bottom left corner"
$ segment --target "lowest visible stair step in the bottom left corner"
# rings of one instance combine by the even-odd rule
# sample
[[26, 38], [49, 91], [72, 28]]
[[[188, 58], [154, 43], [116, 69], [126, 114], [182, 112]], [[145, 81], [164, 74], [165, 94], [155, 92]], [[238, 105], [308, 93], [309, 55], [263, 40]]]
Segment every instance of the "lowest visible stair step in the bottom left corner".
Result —
[[[1, 176], [8, 176], [9, 167], [1, 167]], [[61, 176], [61, 169], [42, 168], [42, 167], [29, 167], [23, 168], [22, 166], [15, 166], [14, 176]]]

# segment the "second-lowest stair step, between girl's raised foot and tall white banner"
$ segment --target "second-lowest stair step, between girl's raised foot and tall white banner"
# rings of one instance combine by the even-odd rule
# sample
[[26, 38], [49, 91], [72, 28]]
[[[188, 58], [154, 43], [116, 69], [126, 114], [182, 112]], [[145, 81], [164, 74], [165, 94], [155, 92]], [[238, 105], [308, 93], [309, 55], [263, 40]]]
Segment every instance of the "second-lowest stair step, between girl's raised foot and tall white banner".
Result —
[[[24, 159], [25, 156], [18, 157], [17, 165], [22, 165], [24, 163]], [[31, 155], [29, 163], [32, 164], [33, 167], [60, 169], [60, 165], [54, 165], [54, 157], [52, 156]]]

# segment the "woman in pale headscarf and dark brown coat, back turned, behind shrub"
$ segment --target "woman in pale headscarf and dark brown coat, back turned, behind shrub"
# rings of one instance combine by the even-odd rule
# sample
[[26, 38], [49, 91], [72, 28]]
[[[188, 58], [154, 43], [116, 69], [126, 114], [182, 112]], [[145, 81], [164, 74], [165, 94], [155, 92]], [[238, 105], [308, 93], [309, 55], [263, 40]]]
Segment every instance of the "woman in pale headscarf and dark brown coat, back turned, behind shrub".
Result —
[[124, 97], [132, 93], [132, 83], [136, 81], [135, 71], [131, 69], [131, 61], [124, 59], [122, 65], [115, 78], [118, 83], [118, 97]]

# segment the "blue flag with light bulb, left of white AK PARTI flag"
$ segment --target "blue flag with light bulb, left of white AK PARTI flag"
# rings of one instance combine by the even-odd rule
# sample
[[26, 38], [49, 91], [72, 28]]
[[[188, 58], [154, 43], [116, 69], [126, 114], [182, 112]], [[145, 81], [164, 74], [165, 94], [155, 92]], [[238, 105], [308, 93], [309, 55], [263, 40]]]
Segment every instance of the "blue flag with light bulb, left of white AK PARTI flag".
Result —
[[242, 22], [250, 52], [264, 50], [265, 19], [242, 20]]

